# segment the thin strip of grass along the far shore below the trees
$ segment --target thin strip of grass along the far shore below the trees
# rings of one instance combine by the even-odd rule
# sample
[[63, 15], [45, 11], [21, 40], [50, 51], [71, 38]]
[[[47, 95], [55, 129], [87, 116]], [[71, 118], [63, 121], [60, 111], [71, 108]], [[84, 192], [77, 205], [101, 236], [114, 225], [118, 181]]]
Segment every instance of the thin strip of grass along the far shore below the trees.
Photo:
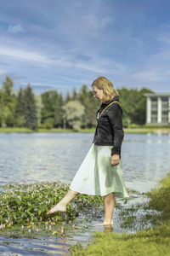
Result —
[[[95, 129], [81, 129], [78, 132], [82, 133], [94, 133]], [[170, 134], [170, 127], [131, 127], [124, 128], [125, 133], [154, 133], [154, 134]], [[31, 132], [74, 132], [71, 129], [42, 129], [37, 128], [36, 131], [32, 131], [27, 128], [0, 128], [0, 133], [18, 132], [18, 133], [31, 133]]]

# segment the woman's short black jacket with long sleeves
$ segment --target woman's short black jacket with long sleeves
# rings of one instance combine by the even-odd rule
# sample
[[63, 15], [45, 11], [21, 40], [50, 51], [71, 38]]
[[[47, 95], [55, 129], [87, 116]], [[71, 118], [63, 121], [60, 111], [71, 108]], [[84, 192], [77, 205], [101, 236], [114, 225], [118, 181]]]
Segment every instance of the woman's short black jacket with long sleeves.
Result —
[[[102, 103], [97, 112], [98, 125], [94, 133], [94, 145], [97, 146], [113, 146], [111, 148], [111, 155], [121, 155], [122, 140], [124, 137], [124, 131], [122, 130], [122, 108], [118, 103], [112, 103], [111, 106], [107, 107], [111, 102], [119, 102], [119, 96], [115, 96], [110, 102]], [[99, 114], [101, 115], [99, 116]]]

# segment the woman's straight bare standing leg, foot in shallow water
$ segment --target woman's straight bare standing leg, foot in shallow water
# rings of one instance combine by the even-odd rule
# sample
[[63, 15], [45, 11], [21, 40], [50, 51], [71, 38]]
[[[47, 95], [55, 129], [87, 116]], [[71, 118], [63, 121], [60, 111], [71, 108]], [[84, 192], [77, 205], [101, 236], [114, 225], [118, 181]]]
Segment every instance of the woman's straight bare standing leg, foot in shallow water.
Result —
[[112, 225], [113, 224], [113, 211], [115, 207], [115, 196], [113, 193], [104, 196], [105, 201], [105, 218], [104, 225]]

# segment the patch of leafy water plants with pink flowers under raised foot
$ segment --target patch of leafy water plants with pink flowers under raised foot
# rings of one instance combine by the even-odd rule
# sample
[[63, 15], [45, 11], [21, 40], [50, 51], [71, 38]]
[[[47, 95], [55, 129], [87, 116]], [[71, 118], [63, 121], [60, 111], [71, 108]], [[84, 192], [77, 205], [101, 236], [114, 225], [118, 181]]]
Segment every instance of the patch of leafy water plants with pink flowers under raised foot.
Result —
[[[48, 207], [57, 204], [69, 186], [63, 183], [7, 185], [0, 192], [0, 234], [6, 236], [65, 236], [74, 227], [81, 212], [103, 205], [99, 196], [78, 195], [67, 212], [46, 216]], [[87, 225], [84, 225], [87, 228]]]

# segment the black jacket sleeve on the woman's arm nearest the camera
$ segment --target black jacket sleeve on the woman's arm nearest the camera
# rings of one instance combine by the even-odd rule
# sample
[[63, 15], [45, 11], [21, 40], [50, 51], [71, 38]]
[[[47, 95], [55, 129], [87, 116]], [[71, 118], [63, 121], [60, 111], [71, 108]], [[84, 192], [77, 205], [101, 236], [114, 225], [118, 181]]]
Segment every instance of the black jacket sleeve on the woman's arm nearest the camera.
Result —
[[111, 106], [108, 110], [107, 115], [114, 133], [114, 144], [113, 148], [111, 148], [111, 155], [119, 154], [121, 156], [121, 146], [124, 137], [124, 131], [122, 130], [122, 109], [118, 104], [114, 104], [114, 106]]

